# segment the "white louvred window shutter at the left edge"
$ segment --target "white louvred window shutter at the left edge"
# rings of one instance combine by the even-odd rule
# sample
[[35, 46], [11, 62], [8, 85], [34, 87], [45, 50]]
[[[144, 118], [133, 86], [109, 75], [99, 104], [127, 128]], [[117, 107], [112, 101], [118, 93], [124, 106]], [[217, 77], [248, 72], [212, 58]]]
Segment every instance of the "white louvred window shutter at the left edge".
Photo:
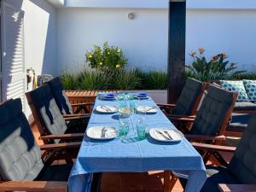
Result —
[[21, 98], [25, 108], [24, 12], [2, 4], [3, 101]]

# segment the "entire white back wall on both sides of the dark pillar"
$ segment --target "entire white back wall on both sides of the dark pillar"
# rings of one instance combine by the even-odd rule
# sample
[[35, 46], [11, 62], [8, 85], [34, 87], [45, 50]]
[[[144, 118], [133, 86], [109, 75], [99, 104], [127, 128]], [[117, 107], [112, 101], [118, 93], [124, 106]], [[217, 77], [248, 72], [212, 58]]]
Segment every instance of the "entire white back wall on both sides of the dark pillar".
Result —
[[[194, 8], [187, 10], [186, 63], [202, 46], [208, 58], [224, 52], [238, 67], [256, 71], [256, 11]], [[127, 19], [130, 12], [135, 20]], [[105, 41], [123, 49], [131, 67], [166, 70], [167, 33], [167, 9], [58, 9], [58, 73], [84, 65], [86, 50]]]

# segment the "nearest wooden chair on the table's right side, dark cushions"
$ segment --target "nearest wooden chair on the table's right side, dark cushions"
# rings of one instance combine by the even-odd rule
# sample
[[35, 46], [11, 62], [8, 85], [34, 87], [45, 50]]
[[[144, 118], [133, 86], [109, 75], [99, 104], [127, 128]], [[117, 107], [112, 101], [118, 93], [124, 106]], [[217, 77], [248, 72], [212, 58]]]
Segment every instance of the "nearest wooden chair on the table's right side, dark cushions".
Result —
[[[256, 114], [253, 113], [237, 148], [219, 145], [192, 143], [197, 149], [209, 153], [232, 152], [230, 163], [219, 161], [221, 166], [207, 166], [207, 181], [201, 192], [253, 192], [256, 191]], [[180, 179], [183, 186], [185, 179]]]

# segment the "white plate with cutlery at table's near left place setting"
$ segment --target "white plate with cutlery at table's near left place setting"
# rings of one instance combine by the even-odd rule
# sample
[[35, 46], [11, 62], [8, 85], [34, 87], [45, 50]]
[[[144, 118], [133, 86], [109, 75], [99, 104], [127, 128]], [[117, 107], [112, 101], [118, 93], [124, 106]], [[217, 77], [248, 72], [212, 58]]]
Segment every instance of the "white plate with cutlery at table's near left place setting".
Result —
[[[105, 137], [102, 137], [102, 129], [106, 128]], [[113, 126], [92, 126], [86, 130], [86, 135], [92, 139], [113, 139], [118, 136], [118, 131]]]

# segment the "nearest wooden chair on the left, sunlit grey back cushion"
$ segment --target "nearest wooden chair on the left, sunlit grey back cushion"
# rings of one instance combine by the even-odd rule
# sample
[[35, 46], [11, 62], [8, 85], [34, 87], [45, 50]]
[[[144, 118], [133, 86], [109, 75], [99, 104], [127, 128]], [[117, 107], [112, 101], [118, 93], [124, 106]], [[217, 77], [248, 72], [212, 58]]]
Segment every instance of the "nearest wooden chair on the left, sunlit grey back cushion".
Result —
[[[79, 148], [80, 143], [38, 146], [22, 113], [20, 99], [1, 104], [0, 116], [0, 191], [67, 192], [73, 164], [51, 165], [49, 159], [61, 159], [67, 148]], [[52, 154], [53, 150], [58, 150], [59, 155]], [[93, 183], [100, 184], [100, 177], [95, 175]]]

